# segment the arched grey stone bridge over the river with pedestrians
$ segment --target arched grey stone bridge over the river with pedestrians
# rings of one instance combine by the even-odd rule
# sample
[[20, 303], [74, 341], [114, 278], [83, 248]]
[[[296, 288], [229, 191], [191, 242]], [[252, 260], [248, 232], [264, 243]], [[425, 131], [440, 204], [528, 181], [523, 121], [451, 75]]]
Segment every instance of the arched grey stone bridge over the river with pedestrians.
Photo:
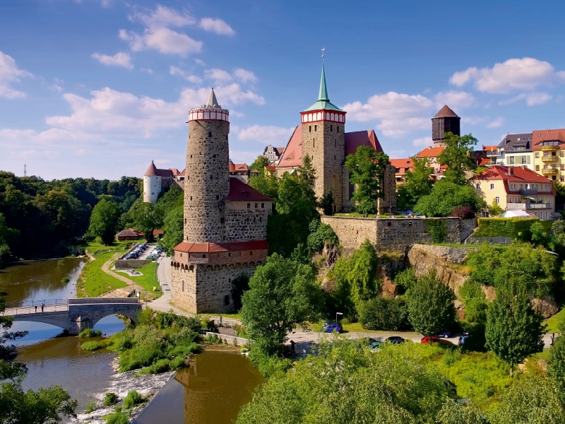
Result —
[[[5, 316], [13, 316], [14, 321], [43, 322], [61, 327], [69, 334], [79, 334], [84, 329], [91, 329], [108, 315], [124, 315], [137, 321], [141, 311], [141, 303], [136, 298], [81, 298], [69, 299], [65, 303], [45, 305], [41, 307], [12, 307], [6, 308]], [[37, 312], [36, 312], [37, 310]]]

